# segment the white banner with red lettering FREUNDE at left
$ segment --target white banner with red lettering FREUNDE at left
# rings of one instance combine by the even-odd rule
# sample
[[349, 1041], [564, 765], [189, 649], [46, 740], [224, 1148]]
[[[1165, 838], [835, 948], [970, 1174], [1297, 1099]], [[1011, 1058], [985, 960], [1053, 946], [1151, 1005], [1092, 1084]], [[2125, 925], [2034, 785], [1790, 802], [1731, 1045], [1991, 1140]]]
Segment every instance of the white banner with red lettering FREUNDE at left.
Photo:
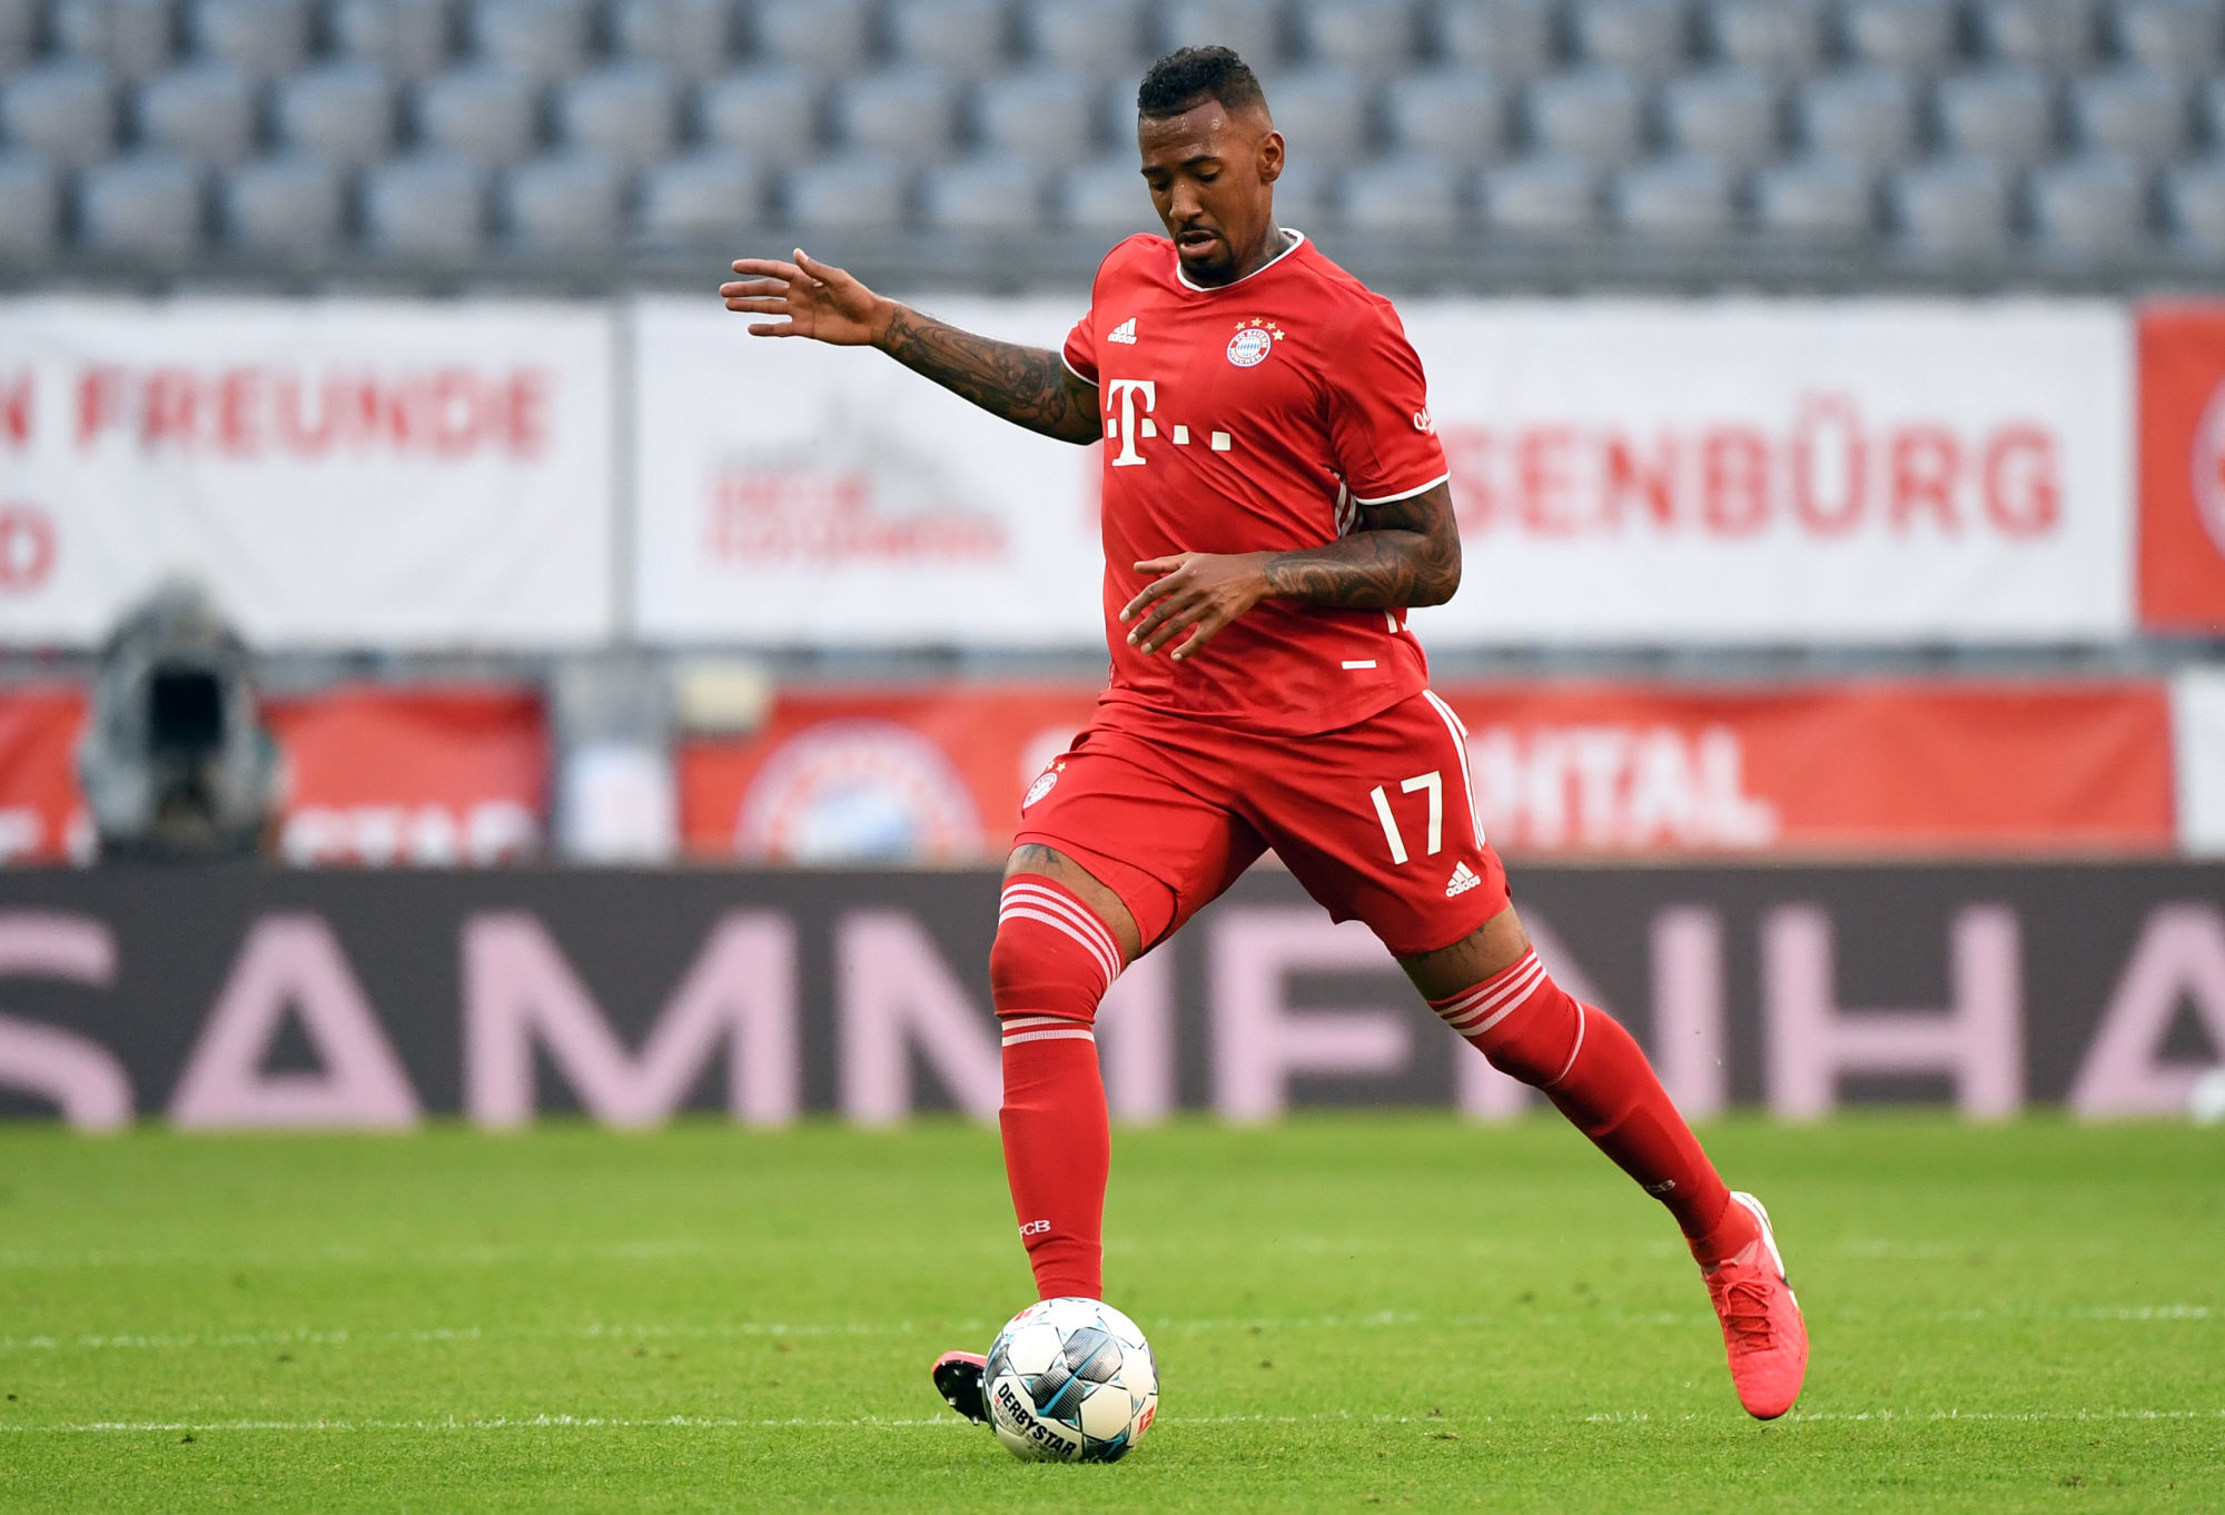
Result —
[[187, 574], [258, 645], [603, 641], [612, 316], [0, 303], [0, 641], [98, 641]]

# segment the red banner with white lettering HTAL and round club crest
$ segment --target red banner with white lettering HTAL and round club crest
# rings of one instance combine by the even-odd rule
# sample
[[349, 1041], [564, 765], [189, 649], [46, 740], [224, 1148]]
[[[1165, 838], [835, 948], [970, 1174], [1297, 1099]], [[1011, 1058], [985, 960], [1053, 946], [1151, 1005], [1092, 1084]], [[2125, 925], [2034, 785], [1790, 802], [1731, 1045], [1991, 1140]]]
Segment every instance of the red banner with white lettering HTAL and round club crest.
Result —
[[[1511, 854], [2169, 852], [2152, 683], [1451, 685], [1484, 830]], [[1088, 723], [1059, 690], [788, 692], [679, 756], [701, 856], [997, 856]]]

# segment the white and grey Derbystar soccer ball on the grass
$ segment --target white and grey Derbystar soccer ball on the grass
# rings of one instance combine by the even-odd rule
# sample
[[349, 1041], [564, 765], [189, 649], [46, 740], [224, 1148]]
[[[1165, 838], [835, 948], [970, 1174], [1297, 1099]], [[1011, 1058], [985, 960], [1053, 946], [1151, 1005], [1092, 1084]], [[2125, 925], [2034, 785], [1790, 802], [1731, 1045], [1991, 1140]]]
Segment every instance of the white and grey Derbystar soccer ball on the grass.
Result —
[[997, 1439], [1026, 1462], [1119, 1462], [1159, 1413], [1150, 1344], [1101, 1299], [1015, 1315], [988, 1348], [981, 1388]]

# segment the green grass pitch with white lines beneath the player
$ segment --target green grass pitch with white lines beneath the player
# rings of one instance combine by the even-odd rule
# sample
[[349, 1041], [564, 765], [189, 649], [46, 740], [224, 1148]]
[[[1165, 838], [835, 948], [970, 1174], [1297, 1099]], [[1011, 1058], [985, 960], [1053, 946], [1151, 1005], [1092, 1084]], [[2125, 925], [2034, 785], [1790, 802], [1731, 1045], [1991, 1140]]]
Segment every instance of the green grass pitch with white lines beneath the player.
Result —
[[1115, 1139], [1166, 1390], [1106, 1468], [928, 1386], [1030, 1297], [988, 1130], [0, 1128], [0, 1506], [2225, 1511], [2225, 1130], [1704, 1135], [1809, 1310], [1784, 1422], [1558, 1123], [1197, 1121]]

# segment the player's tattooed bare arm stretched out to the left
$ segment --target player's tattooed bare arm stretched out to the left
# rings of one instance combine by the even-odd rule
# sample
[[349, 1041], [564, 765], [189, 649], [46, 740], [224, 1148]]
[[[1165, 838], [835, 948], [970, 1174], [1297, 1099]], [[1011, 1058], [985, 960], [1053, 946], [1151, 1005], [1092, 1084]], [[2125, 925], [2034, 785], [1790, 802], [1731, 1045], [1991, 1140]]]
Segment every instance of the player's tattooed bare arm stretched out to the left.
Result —
[[750, 336], [808, 336], [834, 347], [879, 347], [992, 416], [1061, 443], [1095, 443], [1097, 385], [1084, 383], [1059, 354], [999, 343], [921, 316], [877, 296], [863, 283], [797, 249], [794, 263], [739, 258], [734, 283], [721, 285], [730, 311], [781, 316], [752, 320]]

